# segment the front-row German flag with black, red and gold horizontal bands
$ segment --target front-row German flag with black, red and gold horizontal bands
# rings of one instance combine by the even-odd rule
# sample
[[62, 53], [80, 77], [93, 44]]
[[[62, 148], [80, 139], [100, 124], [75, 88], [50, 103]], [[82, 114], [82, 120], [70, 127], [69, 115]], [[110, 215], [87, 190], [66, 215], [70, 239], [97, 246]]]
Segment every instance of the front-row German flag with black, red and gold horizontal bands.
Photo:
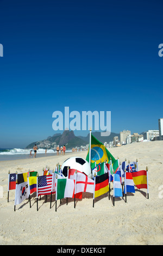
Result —
[[104, 173], [96, 176], [95, 197], [99, 197], [109, 191], [109, 174]]

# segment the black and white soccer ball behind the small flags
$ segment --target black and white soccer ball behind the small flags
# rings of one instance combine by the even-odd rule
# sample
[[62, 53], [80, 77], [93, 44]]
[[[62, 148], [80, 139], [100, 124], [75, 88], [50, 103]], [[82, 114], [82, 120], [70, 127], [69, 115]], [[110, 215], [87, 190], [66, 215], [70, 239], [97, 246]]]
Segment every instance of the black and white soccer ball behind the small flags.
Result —
[[79, 172], [85, 173], [89, 178], [92, 178], [92, 172], [89, 162], [82, 157], [70, 157], [64, 163], [62, 163], [62, 174], [67, 177], [67, 167], [69, 169], [77, 169]]

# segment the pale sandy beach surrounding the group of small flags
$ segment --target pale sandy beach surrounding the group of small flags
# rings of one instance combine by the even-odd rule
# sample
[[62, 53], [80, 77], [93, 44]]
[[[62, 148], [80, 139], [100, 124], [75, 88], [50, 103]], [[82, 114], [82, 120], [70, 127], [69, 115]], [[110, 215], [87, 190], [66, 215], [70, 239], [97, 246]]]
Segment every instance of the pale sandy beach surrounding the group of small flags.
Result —
[[[57, 212], [53, 198], [52, 209], [49, 197], [39, 201], [32, 197], [32, 208], [28, 200], [16, 206], [15, 190], [10, 191], [7, 202], [8, 170], [10, 173], [36, 170], [42, 175], [46, 165], [53, 169], [70, 156], [85, 159], [86, 152], [71, 153], [65, 156], [41, 157], [28, 160], [2, 161], [0, 163], [0, 185], [3, 198], [0, 198], [0, 244], [1, 245], [162, 245], [163, 244], [163, 141], [134, 143], [110, 149], [120, 161], [139, 160], [139, 170], [148, 166], [149, 199], [147, 190], [128, 193], [127, 203], [117, 198], [115, 206], [108, 195], [96, 198], [92, 207], [92, 194], [85, 193], [82, 200], [58, 200]], [[112, 187], [111, 187], [112, 188]], [[160, 190], [161, 189], [161, 190]]]

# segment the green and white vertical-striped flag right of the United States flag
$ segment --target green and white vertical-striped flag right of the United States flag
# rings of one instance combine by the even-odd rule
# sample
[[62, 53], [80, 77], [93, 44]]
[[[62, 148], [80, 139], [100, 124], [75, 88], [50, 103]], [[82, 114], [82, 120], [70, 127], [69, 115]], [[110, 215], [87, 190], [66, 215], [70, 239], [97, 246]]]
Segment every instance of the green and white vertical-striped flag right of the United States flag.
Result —
[[74, 180], [58, 179], [57, 180], [57, 200], [65, 197], [74, 197]]

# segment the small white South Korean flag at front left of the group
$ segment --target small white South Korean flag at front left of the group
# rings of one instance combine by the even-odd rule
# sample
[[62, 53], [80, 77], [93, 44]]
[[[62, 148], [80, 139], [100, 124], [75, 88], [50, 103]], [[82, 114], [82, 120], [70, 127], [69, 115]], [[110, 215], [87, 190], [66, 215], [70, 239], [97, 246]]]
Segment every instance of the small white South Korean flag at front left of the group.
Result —
[[22, 182], [16, 185], [15, 191], [15, 205], [23, 202], [24, 199], [28, 199], [29, 190], [28, 190], [28, 182]]

